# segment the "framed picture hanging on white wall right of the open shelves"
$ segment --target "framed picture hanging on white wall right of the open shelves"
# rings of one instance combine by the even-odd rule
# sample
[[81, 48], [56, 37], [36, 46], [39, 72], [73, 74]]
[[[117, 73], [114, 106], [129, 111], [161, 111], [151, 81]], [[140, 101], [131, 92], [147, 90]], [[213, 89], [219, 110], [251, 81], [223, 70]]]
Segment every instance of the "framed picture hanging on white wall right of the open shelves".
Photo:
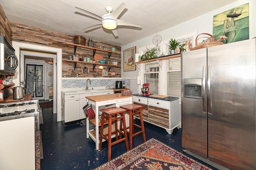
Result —
[[136, 66], [134, 64], [136, 53], [136, 47], [131, 47], [129, 49], [124, 50], [124, 71], [133, 71], [136, 70]]

